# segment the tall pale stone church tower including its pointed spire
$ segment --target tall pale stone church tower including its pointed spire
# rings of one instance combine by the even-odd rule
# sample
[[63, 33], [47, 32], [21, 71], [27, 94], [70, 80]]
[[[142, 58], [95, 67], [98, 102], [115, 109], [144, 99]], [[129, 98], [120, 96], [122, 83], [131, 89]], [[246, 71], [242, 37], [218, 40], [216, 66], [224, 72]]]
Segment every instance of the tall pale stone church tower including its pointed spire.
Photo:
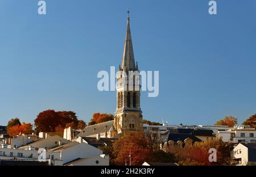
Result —
[[135, 65], [134, 60], [128, 11], [125, 47], [117, 75], [117, 109], [114, 119], [115, 131], [122, 133], [123, 136], [127, 133], [143, 132], [139, 81], [139, 69], [138, 63]]

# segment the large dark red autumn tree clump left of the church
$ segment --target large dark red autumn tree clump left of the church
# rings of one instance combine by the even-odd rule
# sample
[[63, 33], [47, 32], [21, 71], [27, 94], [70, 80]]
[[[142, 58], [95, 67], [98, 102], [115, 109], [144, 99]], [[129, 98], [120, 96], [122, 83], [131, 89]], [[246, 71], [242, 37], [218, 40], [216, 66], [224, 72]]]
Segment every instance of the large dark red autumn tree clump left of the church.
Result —
[[40, 112], [35, 119], [35, 126], [38, 132], [51, 132], [59, 125], [65, 128], [68, 123], [75, 124], [75, 127], [79, 123], [75, 112], [47, 110]]

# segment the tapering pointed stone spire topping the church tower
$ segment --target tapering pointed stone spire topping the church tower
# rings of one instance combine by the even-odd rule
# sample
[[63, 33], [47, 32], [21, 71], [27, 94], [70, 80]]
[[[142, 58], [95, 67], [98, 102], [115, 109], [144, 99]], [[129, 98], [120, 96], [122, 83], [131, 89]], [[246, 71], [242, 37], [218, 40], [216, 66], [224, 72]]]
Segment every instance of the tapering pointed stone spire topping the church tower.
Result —
[[128, 13], [127, 29], [126, 29], [126, 36], [125, 36], [125, 48], [123, 49], [122, 69], [126, 68], [127, 70], [135, 70], [133, 43], [131, 41], [129, 8], [128, 8], [127, 13]]

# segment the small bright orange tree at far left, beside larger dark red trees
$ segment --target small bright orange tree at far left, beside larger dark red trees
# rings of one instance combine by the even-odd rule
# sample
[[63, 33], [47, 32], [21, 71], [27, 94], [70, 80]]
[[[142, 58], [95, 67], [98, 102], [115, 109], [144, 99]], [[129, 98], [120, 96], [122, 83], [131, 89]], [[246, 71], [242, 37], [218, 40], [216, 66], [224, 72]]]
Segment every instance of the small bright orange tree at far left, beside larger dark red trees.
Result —
[[32, 124], [28, 123], [22, 123], [22, 125], [16, 124], [13, 127], [10, 127], [7, 130], [7, 133], [9, 136], [18, 136], [19, 134], [31, 134], [33, 132], [32, 130]]

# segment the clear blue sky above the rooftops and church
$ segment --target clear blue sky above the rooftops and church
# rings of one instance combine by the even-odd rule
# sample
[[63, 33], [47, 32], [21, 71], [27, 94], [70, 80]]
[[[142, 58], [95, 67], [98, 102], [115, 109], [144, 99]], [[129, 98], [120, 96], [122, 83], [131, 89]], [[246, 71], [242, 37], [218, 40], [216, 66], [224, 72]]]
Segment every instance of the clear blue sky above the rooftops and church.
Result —
[[122, 59], [130, 6], [135, 60], [159, 70], [159, 96], [142, 92], [144, 119], [242, 123], [256, 113], [256, 1], [0, 0], [0, 125], [34, 123], [46, 109], [114, 113], [115, 91], [97, 90], [97, 73]]

